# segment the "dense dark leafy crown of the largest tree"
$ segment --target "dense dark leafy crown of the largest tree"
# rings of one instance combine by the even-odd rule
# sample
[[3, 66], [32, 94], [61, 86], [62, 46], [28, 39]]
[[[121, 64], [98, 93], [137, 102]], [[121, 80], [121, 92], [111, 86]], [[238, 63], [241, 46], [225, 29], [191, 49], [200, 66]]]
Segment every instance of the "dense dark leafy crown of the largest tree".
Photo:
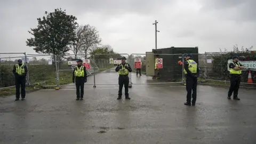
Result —
[[74, 42], [77, 18], [61, 9], [45, 12], [45, 15], [43, 19], [37, 19], [37, 28], [28, 31], [34, 38], [27, 39], [27, 46], [33, 46], [37, 53], [66, 54]]

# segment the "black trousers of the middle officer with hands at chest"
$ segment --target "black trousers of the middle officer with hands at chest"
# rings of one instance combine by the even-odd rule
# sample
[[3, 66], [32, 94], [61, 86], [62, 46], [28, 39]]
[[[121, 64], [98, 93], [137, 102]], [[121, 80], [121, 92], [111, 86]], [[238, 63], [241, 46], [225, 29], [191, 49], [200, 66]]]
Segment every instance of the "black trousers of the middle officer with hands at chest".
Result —
[[128, 75], [119, 75], [119, 78], [118, 78], [118, 84], [119, 84], [119, 91], [118, 91], [118, 96], [119, 97], [122, 97], [122, 90], [123, 90], [123, 86], [124, 86], [124, 94], [125, 94], [125, 97], [129, 97], [129, 76]]

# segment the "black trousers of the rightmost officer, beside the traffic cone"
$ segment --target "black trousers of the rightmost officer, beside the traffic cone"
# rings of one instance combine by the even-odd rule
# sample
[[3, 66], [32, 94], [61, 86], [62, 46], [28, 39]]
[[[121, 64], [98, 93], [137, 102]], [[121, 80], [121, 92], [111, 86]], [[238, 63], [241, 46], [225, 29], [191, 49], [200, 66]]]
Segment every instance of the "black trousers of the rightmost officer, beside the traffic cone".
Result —
[[234, 92], [233, 97], [237, 98], [240, 82], [241, 82], [240, 75], [231, 75], [230, 76], [230, 87], [229, 87], [229, 91], [228, 91], [228, 97], [231, 97], [232, 93]]

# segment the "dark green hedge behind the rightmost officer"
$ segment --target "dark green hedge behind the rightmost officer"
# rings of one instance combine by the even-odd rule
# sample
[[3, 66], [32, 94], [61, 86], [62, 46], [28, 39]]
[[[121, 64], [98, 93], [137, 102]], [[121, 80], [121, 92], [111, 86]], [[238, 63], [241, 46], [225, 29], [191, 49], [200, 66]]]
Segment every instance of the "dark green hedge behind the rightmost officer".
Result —
[[[250, 60], [256, 60], [256, 54], [251, 51], [252, 46], [249, 48], [241, 47], [241, 49], [238, 48], [237, 45], [233, 47], [232, 52], [220, 52], [218, 54], [212, 54], [212, 73], [208, 73], [208, 76], [210, 77], [217, 77], [223, 80], [229, 79], [229, 71], [227, 70], [228, 66], [228, 60], [232, 59], [234, 55], [237, 55], [239, 57], [240, 61], [250, 61]], [[248, 71], [243, 71], [242, 73], [242, 81], [247, 81]]]

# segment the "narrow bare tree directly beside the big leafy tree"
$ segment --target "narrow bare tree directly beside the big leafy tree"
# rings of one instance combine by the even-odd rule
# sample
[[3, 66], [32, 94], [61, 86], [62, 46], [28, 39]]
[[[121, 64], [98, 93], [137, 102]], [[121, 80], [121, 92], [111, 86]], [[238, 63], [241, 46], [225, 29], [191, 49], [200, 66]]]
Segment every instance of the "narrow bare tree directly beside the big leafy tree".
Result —
[[76, 59], [77, 53], [84, 46], [84, 26], [77, 27], [77, 29], [75, 30], [75, 34], [76, 36], [74, 42], [70, 45], [70, 49], [74, 52]]

